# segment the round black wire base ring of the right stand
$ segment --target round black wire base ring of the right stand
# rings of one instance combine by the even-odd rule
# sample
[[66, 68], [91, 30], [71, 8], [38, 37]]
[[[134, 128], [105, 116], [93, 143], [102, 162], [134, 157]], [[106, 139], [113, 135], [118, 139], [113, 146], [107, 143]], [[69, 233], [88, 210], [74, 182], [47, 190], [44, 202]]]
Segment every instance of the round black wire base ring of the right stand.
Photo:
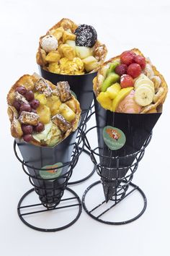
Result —
[[[124, 182], [125, 183], [125, 182]], [[129, 187], [132, 187], [132, 189], [130, 189], [130, 191], [128, 191], [125, 196], [121, 197], [120, 200], [118, 200], [117, 202], [115, 202], [115, 200], [110, 200], [112, 201], [112, 205], [106, 209], [103, 210], [99, 215], [95, 216], [94, 212], [95, 210], [99, 210], [100, 207], [102, 207], [104, 204], [106, 204], [106, 200], [102, 201], [101, 203], [99, 203], [99, 205], [95, 206], [94, 208], [92, 208], [91, 210], [88, 210], [88, 208], [86, 207], [86, 195], [88, 192], [90, 192], [90, 189], [94, 186], [97, 186], [98, 184], [101, 184], [101, 182], [94, 182], [93, 184], [91, 184], [84, 192], [84, 195], [82, 197], [82, 204], [83, 204], [83, 208], [86, 211], [86, 213], [91, 217], [94, 218], [94, 220], [105, 223], [105, 224], [109, 224], [109, 225], [122, 225], [122, 224], [127, 224], [130, 222], [133, 222], [135, 220], [137, 220], [140, 216], [143, 215], [143, 213], [146, 210], [146, 206], [147, 206], [147, 199], [146, 199], [146, 195], [144, 194], [143, 190], [140, 189], [140, 187], [138, 187], [137, 185], [133, 184], [132, 182], [130, 182]], [[137, 216], [128, 219], [127, 221], [107, 221], [102, 219], [101, 217], [104, 217], [105, 213], [108, 213], [109, 211], [113, 210], [113, 208], [118, 205], [120, 202], [122, 202], [123, 200], [125, 200], [126, 197], [128, 197], [131, 193], [138, 191], [139, 195], [143, 197], [143, 209], [140, 211], [140, 213], [138, 213]]]

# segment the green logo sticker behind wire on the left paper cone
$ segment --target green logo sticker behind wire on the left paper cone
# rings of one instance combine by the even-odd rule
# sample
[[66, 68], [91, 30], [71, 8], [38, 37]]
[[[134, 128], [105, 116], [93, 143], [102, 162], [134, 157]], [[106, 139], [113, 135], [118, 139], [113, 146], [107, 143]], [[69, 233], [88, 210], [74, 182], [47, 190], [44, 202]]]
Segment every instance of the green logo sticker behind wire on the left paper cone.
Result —
[[42, 179], [55, 179], [55, 178], [58, 178], [58, 176], [61, 175], [61, 171], [62, 171], [62, 167], [61, 168], [58, 168], [60, 166], [63, 166], [63, 163], [55, 163], [51, 166], [43, 166], [42, 168], [53, 168], [53, 170], [49, 170], [49, 171], [42, 171], [40, 170], [39, 174], [41, 176]]

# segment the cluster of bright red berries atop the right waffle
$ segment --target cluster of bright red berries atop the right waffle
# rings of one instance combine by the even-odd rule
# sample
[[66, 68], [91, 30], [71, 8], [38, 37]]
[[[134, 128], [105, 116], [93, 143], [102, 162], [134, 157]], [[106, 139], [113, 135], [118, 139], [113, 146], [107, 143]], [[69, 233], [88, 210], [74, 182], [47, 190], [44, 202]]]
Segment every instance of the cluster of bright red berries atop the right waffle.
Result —
[[120, 55], [121, 64], [115, 68], [120, 75], [121, 88], [134, 86], [134, 78], [138, 77], [146, 67], [146, 59], [133, 51], [124, 51]]

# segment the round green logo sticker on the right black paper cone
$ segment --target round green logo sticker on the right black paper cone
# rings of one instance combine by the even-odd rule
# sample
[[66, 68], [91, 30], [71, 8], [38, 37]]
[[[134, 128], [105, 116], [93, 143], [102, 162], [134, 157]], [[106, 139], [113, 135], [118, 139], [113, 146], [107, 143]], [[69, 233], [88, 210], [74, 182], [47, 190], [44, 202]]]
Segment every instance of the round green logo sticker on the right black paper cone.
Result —
[[125, 134], [116, 127], [107, 126], [103, 129], [103, 139], [111, 150], [118, 150], [125, 145]]

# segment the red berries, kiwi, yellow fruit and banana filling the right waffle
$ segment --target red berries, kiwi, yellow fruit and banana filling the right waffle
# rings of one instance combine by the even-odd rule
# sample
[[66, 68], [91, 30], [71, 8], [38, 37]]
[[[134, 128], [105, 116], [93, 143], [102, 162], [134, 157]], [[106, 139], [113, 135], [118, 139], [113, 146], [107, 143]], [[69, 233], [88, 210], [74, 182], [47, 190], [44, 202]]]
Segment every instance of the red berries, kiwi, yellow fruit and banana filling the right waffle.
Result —
[[[143, 56], [133, 51], [123, 52], [109, 64], [97, 101], [109, 111], [120, 111], [125, 110], [126, 101], [130, 100], [130, 112], [125, 110], [125, 113], [140, 113], [141, 108], [153, 102], [155, 95], [154, 83], [144, 74], [145, 68]], [[118, 107], [122, 101], [124, 108]]]

